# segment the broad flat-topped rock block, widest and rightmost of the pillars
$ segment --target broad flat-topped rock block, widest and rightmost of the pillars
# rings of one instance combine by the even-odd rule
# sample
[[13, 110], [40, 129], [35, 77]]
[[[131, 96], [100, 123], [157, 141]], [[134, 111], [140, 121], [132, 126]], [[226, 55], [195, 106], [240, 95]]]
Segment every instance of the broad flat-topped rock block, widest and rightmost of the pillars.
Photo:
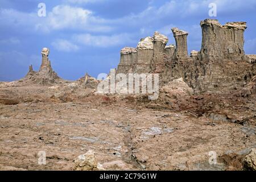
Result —
[[216, 19], [205, 19], [202, 27], [201, 59], [245, 60], [243, 32], [246, 22], [230, 22], [222, 26]]

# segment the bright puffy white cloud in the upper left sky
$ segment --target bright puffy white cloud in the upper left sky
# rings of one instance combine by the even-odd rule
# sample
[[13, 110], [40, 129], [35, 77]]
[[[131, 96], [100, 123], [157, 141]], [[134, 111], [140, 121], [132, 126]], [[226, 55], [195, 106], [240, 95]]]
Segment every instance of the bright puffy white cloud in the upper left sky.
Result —
[[114, 29], [107, 20], [94, 16], [92, 11], [68, 5], [53, 7], [46, 17], [39, 17], [36, 12], [23, 13], [14, 9], [0, 9], [0, 24], [44, 33], [55, 30], [110, 32]]

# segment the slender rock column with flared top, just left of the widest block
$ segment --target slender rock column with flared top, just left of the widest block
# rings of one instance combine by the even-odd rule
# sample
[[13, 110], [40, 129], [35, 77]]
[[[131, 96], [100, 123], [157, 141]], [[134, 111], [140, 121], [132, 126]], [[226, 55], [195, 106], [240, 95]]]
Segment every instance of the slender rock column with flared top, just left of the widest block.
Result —
[[175, 59], [187, 59], [188, 58], [188, 46], [187, 46], [187, 36], [188, 32], [179, 30], [179, 28], [172, 28], [172, 33], [174, 34], [176, 49], [175, 49]]

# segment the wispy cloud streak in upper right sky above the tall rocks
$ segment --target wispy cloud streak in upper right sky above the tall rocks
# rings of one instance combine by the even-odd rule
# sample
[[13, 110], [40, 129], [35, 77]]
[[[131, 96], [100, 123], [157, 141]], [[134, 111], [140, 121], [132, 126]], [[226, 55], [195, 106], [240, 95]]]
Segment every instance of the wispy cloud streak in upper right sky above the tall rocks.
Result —
[[[138, 14], [131, 14], [119, 19], [114, 19], [112, 22], [117, 24], [124, 24], [129, 22], [131, 26], [138, 26], [141, 24], [150, 24], [159, 22], [160, 19], [169, 18], [170, 20], [179, 20], [184, 18], [192, 18], [205, 16], [209, 17], [209, 4], [216, 3], [217, 15], [221, 13], [240, 13], [241, 10], [255, 10], [256, 1], [248, 0], [244, 1], [232, 1], [232, 0], [180, 0], [180, 1], [168, 1], [160, 7], [152, 6], [150, 4], [145, 10]], [[247, 11], [250, 13], [251, 11]], [[218, 18], [218, 17], [213, 17]]]

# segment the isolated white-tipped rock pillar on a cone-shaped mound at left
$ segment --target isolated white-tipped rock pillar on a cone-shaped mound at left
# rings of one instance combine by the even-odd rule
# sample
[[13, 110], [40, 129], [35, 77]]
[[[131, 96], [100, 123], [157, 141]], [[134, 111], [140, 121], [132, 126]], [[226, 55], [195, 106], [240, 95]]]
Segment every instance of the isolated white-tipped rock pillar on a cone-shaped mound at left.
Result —
[[33, 71], [32, 65], [29, 67], [29, 71], [26, 77], [23, 79], [26, 82], [32, 82], [33, 84], [50, 85], [63, 81], [57, 73], [52, 70], [51, 61], [49, 60], [49, 49], [42, 49], [42, 64], [39, 72]]

